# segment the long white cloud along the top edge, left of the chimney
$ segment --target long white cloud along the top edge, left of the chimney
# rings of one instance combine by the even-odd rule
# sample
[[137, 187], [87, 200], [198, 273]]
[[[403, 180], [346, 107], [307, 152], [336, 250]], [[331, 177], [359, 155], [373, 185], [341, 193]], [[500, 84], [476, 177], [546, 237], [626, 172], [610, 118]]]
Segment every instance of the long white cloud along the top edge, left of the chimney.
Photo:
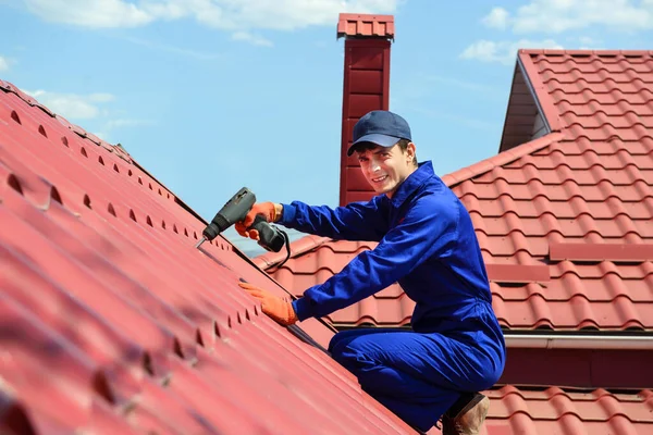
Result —
[[247, 32], [334, 26], [341, 12], [394, 13], [403, 0], [23, 0], [44, 20], [77, 26], [133, 27], [193, 17], [208, 26]]

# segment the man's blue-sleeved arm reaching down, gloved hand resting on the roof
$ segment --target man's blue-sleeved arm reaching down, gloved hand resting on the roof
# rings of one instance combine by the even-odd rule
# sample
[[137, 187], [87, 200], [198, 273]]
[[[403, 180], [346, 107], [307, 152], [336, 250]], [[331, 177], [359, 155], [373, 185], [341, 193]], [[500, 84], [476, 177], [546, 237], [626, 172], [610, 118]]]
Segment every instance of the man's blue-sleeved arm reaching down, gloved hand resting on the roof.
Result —
[[328, 315], [397, 282], [433, 254], [446, 257], [457, 238], [458, 215], [454, 203], [421, 198], [375, 249], [361, 252], [342, 272], [294, 300], [298, 319]]

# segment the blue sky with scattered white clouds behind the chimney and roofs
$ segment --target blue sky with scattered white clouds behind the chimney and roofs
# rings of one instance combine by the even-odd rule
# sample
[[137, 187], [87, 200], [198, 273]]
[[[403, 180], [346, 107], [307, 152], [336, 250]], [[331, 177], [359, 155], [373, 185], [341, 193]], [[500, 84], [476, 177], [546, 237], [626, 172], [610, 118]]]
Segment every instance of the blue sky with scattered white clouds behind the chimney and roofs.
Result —
[[653, 0], [0, 0], [0, 78], [208, 220], [242, 186], [336, 206], [340, 12], [395, 16], [390, 109], [440, 175], [496, 153], [517, 48], [653, 49]]

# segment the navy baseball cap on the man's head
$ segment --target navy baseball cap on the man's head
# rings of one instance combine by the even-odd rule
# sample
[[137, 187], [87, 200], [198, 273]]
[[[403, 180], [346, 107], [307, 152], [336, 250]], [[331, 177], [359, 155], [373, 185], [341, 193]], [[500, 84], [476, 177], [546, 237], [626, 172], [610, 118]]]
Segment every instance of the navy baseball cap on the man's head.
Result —
[[352, 156], [356, 146], [361, 142], [392, 147], [399, 139], [412, 140], [406, 120], [386, 110], [373, 110], [366, 113], [354, 126], [354, 144], [347, 150], [347, 156]]

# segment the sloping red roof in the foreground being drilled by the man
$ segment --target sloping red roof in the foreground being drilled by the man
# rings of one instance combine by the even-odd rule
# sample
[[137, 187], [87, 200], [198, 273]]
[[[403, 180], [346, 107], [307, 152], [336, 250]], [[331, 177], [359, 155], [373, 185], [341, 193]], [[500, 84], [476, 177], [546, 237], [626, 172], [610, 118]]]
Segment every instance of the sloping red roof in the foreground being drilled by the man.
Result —
[[0, 432], [410, 432], [124, 150], [0, 86]]

